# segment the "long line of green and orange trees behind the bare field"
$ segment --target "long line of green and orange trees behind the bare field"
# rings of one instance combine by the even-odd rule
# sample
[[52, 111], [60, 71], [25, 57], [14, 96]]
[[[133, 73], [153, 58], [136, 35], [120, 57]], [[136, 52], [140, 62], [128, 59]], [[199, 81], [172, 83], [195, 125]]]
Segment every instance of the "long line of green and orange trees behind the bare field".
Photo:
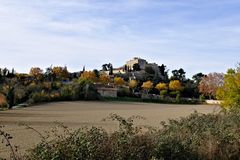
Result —
[[[77, 87], [79, 84], [82, 87]], [[69, 72], [66, 66], [51, 66], [45, 71], [39, 67], [32, 67], [28, 74], [20, 74], [14, 69], [3, 68], [0, 69], [0, 106], [11, 108], [13, 105], [29, 102], [29, 100], [33, 102], [41, 102], [44, 99], [47, 101], [51, 99], [71, 100], [70, 97], [77, 97], [77, 93], [81, 92], [81, 95], [84, 95], [89, 86], [93, 90], [90, 92], [97, 95], [96, 86], [99, 84], [118, 88], [120, 96], [136, 97], [136, 95], [145, 94], [159, 95], [160, 99], [169, 97], [178, 100], [180, 98], [224, 99], [226, 105], [229, 106], [232, 102], [226, 96], [231, 97], [233, 93], [239, 92], [239, 67], [229, 69], [226, 74], [197, 73], [191, 79], [186, 78], [186, 72], [182, 68], [173, 70], [172, 75], [169, 76], [169, 70], [164, 64], [158, 66], [157, 69], [146, 65], [144, 70], [140, 69], [139, 65], [134, 65], [131, 71], [114, 74], [111, 63], [102, 65], [100, 71], [97, 69], [85, 71], [84, 67], [82, 71], [74, 73]], [[76, 91], [76, 88], [79, 91]], [[236, 90], [225, 94], [231, 88]], [[69, 95], [63, 96], [64, 94]], [[41, 97], [45, 98], [41, 100]]]

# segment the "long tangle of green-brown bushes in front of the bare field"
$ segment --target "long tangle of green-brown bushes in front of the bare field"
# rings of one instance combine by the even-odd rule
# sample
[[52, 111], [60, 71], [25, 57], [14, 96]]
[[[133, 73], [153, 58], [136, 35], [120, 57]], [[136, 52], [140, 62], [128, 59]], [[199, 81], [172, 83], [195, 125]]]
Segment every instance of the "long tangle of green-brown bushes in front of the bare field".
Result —
[[[136, 118], [136, 117], [135, 117]], [[138, 118], [138, 117], [137, 117]], [[119, 129], [79, 129], [42, 140], [28, 159], [218, 159], [240, 157], [240, 111], [221, 114], [194, 113], [162, 123], [161, 129], [134, 126], [134, 117], [111, 115]]]

